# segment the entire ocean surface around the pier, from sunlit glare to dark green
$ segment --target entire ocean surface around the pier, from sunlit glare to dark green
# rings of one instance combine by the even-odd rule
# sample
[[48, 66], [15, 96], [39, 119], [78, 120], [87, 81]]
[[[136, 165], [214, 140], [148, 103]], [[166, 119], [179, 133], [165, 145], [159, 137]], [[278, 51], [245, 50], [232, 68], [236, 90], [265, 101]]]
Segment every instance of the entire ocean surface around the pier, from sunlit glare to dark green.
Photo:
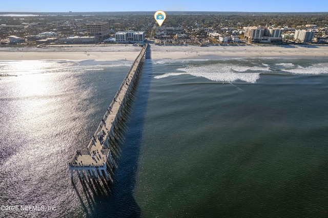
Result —
[[72, 183], [131, 63], [0, 62], [0, 217], [328, 215], [326, 58], [146, 60], [113, 181]]

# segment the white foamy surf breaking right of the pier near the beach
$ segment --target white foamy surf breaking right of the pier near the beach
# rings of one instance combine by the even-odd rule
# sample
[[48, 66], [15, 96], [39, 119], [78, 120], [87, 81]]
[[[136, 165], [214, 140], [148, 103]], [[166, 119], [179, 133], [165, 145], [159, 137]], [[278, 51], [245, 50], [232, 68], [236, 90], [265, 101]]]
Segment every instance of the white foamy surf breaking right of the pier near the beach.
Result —
[[[259, 62], [258, 60], [262, 60]], [[183, 60], [183, 62], [191, 60]], [[200, 61], [200, 60], [197, 60]], [[202, 60], [204, 61], [204, 60]], [[209, 61], [209, 60], [207, 60]], [[237, 62], [236, 62], [237, 61]], [[238, 80], [255, 83], [259, 78], [260, 74], [328, 74], [328, 63], [327, 62], [309, 62], [304, 60], [286, 60], [286, 62], [278, 62], [281, 59], [234, 59], [234, 60], [220, 60], [218, 63], [204, 63], [195, 62], [193, 64], [181, 64], [179, 69], [180, 72], [170, 72], [161, 75], [156, 75], [155, 79], [161, 79], [169, 76], [180, 76], [180, 75], [192, 75], [197, 77], [204, 77], [212, 81], [220, 82], [236, 82]], [[181, 60], [156, 60], [156, 64], [170, 64], [174, 62], [181, 62]]]

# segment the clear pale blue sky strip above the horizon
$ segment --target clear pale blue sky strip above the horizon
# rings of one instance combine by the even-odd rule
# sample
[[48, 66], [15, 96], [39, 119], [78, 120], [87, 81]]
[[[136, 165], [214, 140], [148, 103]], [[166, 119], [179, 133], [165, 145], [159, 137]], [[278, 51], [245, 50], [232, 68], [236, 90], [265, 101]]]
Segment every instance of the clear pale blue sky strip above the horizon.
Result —
[[97, 11], [244, 11], [328, 12], [327, 0], [52, 0], [14, 2], [1, 0], [1, 12], [97, 12]]

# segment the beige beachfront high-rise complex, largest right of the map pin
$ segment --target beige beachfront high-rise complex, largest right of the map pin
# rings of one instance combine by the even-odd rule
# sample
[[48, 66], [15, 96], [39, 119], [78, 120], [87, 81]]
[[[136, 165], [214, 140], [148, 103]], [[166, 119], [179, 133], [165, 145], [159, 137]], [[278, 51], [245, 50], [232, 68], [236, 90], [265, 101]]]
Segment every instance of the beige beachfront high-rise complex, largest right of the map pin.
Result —
[[264, 27], [244, 27], [244, 37], [251, 42], [281, 42], [282, 29]]

